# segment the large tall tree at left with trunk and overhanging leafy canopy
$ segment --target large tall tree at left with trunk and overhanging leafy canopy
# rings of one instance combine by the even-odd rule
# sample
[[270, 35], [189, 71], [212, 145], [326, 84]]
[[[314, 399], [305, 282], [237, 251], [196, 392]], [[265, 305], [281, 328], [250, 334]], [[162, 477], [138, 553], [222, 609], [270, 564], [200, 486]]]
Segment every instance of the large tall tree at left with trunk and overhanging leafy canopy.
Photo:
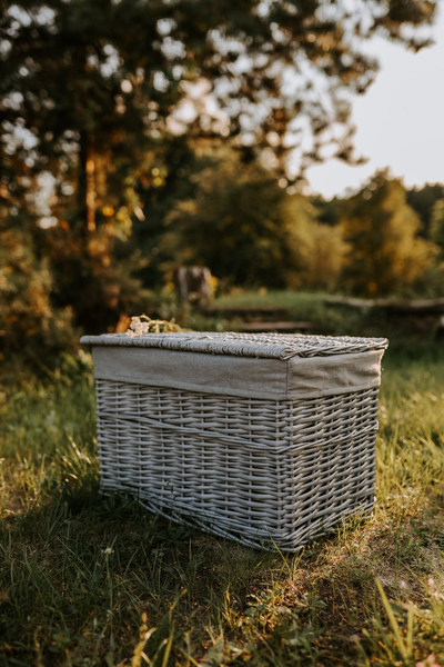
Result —
[[[381, 32], [420, 49], [435, 2], [3, 0], [2, 9], [2, 182], [16, 186], [14, 159], [28, 170], [27, 196], [51, 176], [54, 228], [39, 252], [51, 259], [57, 303], [95, 330], [134, 303], [117, 246], [147, 217], [143, 193], [168, 183], [158, 163], [165, 141], [222, 137], [287, 176], [291, 156], [302, 175], [326, 147], [353, 160], [349, 93], [363, 92], [377, 67], [363, 42]], [[135, 255], [127, 259], [140, 269]]]

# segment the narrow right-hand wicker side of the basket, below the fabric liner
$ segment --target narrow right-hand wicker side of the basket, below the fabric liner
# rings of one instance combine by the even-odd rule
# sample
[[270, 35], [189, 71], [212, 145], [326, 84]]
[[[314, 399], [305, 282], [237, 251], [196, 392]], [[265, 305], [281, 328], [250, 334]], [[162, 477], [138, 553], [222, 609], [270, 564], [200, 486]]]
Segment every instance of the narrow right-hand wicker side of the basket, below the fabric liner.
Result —
[[374, 504], [377, 389], [323, 398], [310, 407], [304, 415], [297, 414], [302, 406], [294, 410], [294, 442], [304, 447], [296, 446], [289, 465], [287, 485], [294, 488], [289, 547], [351, 514], [367, 514]]

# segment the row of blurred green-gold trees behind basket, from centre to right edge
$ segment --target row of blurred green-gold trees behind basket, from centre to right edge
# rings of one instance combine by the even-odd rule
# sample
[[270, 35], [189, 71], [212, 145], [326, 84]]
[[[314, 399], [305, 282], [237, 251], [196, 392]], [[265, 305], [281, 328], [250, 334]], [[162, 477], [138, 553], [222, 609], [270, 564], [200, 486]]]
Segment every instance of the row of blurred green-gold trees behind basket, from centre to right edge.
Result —
[[186, 182], [152, 236], [149, 218], [134, 228], [147, 285], [171, 281], [178, 266], [202, 265], [222, 290], [444, 291], [442, 185], [406, 190], [382, 171], [357, 193], [325, 201], [281, 187], [228, 151], [198, 162]]

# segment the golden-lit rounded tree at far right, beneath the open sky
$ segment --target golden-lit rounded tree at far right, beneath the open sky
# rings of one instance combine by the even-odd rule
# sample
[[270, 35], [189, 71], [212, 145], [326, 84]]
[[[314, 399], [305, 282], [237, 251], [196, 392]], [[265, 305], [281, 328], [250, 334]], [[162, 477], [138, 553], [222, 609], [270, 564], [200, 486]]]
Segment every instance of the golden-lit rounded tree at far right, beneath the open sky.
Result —
[[420, 279], [436, 256], [436, 246], [418, 238], [421, 221], [406, 203], [401, 180], [377, 172], [349, 200], [341, 222], [350, 243], [343, 283], [352, 292], [379, 297]]

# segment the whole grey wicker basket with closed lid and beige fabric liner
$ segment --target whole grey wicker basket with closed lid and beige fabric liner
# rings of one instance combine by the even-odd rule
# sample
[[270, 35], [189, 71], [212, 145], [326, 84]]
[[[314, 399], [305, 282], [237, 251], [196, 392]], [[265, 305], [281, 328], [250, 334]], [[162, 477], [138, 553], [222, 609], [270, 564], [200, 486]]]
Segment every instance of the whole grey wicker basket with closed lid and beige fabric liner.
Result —
[[374, 502], [385, 339], [85, 336], [101, 489], [245, 544], [294, 550]]

